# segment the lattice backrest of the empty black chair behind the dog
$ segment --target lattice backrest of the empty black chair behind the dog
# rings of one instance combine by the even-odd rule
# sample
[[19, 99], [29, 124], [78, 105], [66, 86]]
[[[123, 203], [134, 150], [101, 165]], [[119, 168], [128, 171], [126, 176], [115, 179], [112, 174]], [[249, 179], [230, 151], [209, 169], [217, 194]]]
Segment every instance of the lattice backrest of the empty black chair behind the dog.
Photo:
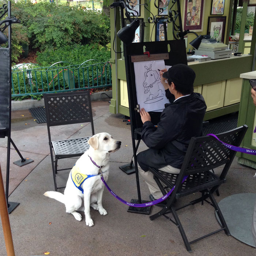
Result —
[[47, 126], [91, 123], [94, 135], [90, 91], [44, 94]]

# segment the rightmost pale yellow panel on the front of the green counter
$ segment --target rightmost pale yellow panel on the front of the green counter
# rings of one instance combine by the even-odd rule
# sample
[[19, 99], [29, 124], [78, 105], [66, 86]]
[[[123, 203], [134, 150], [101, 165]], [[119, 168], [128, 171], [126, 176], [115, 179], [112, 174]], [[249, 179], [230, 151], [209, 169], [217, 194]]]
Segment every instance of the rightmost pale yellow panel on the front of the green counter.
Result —
[[229, 106], [240, 102], [242, 78], [226, 80], [224, 106]]

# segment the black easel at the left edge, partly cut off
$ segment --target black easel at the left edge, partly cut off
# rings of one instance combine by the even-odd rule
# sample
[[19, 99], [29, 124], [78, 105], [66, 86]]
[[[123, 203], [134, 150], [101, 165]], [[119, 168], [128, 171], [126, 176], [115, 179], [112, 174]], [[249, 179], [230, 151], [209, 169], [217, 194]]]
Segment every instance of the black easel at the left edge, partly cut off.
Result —
[[[5, 26], [3, 29], [0, 29], [1, 32], [8, 27], [8, 48], [0, 48], [0, 138], [7, 137], [7, 163], [6, 163], [6, 186], [5, 186], [5, 197], [8, 206], [8, 213], [10, 214], [19, 203], [8, 202], [9, 194], [9, 176], [10, 176], [10, 151], [11, 143], [14, 146], [15, 150], [21, 158], [18, 161], [15, 161], [14, 164], [18, 166], [23, 166], [28, 163], [34, 162], [29, 158], [23, 158], [20, 154], [18, 148], [11, 139], [11, 88], [12, 88], [12, 66], [11, 66], [11, 23], [19, 23], [20, 21], [16, 18], [11, 17], [11, 2], [8, 1], [8, 7], [6, 4], [3, 5], [3, 14], [0, 16], [0, 19], [8, 11], [8, 17], [6, 18]], [[8, 25], [7, 25], [7, 24]]]

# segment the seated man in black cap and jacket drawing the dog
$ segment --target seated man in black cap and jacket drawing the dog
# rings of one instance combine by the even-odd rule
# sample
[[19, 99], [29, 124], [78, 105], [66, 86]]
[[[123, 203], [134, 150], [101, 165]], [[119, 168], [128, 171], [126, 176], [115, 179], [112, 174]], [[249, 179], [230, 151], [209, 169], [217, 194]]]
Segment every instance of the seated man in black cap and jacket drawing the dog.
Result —
[[206, 111], [203, 96], [193, 93], [196, 75], [188, 65], [173, 65], [168, 71], [160, 71], [160, 76], [170, 104], [165, 104], [157, 128], [150, 114], [143, 108], [140, 111], [142, 140], [149, 148], [138, 153], [138, 170], [148, 185], [151, 201], [162, 197], [162, 193], [148, 167], [180, 173], [191, 137], [202, 135]]

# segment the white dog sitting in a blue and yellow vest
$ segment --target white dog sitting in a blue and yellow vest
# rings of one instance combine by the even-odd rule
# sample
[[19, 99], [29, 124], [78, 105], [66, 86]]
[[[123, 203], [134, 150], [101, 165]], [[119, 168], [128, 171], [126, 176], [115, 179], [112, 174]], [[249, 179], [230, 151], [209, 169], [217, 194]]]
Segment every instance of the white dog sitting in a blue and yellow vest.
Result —
[[[109, 176], [109, 157], [111, 152], [117, 151], [121, 142], [114, 140], [109, 133], [102, 132], [92, 136], [88, 143], [89, 150], [76, 161], [69, 173], [64, 195], [56, 191], [47, 191], [45, 196], [54, 198], [65, 204], [66, 212], [71, 213], [76, 220], [81, 221], [82, 216], [77, 211], [84, 198], [84, 214], [87, 226], [93, 226], [90, 215], [90, 206], [98, 210], [101, 215], [107, 211], [102, 207], [102, 194], [104, 184], [101, 180], [100, 170], [104, 180]], [[95, 204], [97, 202], [97, 204]]]

